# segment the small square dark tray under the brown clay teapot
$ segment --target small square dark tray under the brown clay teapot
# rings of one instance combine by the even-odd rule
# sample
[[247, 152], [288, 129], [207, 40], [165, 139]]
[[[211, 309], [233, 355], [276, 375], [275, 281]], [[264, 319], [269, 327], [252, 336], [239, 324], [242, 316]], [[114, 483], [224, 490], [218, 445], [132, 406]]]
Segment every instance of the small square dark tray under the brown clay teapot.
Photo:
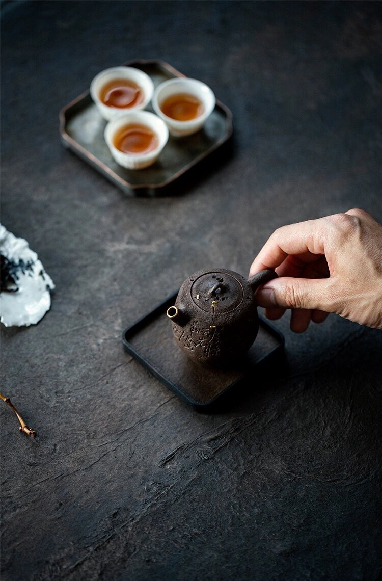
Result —
[[260, 364], [271, 363], [283, 353], [283, 335], [260, 317], [257, 339], [248, 356], [236, 369], [221, 370], [201, 367], [190, 361], [172, 338], [166, 317], [174, 304], [174, 293], [156, 309], [147, 313], [122, 333], [125, 349], [168, 389], [196, 408], [211, 406], [223, 394], [237, 386]]

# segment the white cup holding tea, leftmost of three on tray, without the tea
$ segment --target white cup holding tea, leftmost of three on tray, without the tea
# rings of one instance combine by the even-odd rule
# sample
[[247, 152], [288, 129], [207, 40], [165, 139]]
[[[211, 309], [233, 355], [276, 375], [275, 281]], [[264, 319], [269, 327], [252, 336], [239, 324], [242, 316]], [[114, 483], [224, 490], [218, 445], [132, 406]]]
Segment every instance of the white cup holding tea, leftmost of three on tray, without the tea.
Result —
[[[138, 85], [140, 91], [142, 91], [142, 99], [136, 103], [136, 105], [132, 106], [114, 107], [112, 105], [106, 105], [100, 98], [100, 95], [102, 89], [113, 80], [132, 81], [132, 83]], [[125, 113], [145, 109], [151, 101], [153, 91], [154, 85], [150, 77], [146, 73], [143, 73], [143, 71], [135, 69], [134, 67], [111, 67], [111, 69], [105, 69], [93, 78], [90, 85], [91, 97], [103, 119], [106, 119], [107, 121], [120, 117]]]

